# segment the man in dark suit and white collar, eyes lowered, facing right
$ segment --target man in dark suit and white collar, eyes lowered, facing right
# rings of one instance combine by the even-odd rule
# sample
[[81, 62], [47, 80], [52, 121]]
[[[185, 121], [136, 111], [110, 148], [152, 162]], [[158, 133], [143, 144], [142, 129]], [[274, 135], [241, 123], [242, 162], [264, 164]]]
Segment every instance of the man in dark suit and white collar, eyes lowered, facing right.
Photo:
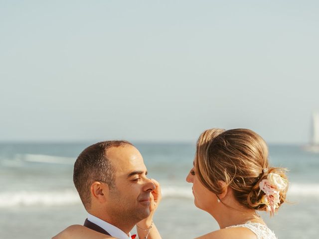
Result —
[[84, 226], [118, 239], [150, 216], [154, 182], [147, 178], [143, 157], [128, 141], [93, 144], [74, 164], [74, 185], [89, 213]]

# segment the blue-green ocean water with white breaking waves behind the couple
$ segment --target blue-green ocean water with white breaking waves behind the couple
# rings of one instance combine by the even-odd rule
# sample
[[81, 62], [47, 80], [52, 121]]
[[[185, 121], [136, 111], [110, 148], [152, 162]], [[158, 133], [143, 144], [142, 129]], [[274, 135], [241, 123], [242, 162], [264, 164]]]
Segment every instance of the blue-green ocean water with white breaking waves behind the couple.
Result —
[[[0, 143], [0, 239], [51, 238], [86, 218], [72, 181], [73, 164], [87, 143]], [[163, 199], [155, 223], [163, 239], [195, 238], [217, 230], [207, 213], [193, 205], [185, 177], [194, 144], [136, 143]], [[279, 239], [318, 238], [319, 154], [298, 145], [270, 145], [273, 166], [287, 167], [288, 200], [270, 218], [261, 213]]]

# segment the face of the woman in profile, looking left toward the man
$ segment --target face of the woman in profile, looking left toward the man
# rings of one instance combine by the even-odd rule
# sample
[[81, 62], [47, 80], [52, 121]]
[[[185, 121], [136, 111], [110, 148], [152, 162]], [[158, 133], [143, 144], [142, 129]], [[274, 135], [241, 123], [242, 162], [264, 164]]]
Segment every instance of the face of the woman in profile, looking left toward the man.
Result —
[[195, 166], [190, 169], [186, 181], [193, 184], [192, 191], [195, 206], [204, 211], [210, 211], [212, 205], [216, 203], [217, 197], [200, 182], [195, 172]]

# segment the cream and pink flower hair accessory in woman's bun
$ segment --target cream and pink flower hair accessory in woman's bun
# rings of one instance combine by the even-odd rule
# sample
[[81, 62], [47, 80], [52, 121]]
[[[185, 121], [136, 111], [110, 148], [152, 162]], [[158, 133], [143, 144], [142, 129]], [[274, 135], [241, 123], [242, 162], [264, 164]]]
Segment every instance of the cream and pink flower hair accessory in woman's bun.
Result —
[[[287, 188], [287, 180], [277, 173], [270, 173], [267, 179], [261, 180], [259, 188], [265, 193], [261, 202], [267, 206], [267, 211], [274, 215], [275, 210], [279, 208], [280, 192]], [[260, 191], [259, 191], [260, 192]]]

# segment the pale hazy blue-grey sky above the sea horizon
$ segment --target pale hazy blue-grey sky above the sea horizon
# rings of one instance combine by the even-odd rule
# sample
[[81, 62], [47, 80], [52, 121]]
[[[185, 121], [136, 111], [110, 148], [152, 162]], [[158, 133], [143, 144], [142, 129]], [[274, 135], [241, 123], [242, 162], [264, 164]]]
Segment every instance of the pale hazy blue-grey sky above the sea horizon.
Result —
[[319, 1], [0, 0], [0, 141], [307, 143]]

